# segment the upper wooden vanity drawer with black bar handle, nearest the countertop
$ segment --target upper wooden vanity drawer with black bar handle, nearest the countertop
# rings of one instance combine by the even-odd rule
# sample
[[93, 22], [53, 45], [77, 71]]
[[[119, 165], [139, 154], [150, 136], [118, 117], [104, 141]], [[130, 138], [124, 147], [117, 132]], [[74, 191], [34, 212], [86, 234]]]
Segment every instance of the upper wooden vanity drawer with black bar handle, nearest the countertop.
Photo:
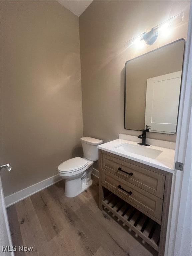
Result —
[[101, 168], [155, 196], [163, 198], [165, 184], [164, 175], [107, 154], [102, 154]]

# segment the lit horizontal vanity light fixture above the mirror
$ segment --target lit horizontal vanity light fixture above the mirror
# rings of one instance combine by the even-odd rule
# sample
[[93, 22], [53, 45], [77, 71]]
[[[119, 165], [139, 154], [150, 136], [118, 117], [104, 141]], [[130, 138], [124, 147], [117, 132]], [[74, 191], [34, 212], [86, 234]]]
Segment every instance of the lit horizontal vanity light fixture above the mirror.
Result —
[[144, 42], [148, 45], [153, 44], [157, 40], [158, 35], [167, 36], [169, 34], [170, 28], [182, 22], [183, 18], [184, 18], [184, 13], [181, 12], [175, 15], [174, 17], [166, 20], [165, 22], [157, 25], [156, 27], [153, 27], [151, 31], [144, 32], [139, 36], [136, 36], [133, 39], [127, 41], [124, 44], [124, 48], [127, 49], [132, 45], [135, 45], [137, 48], [142, 48], [145, 45]]

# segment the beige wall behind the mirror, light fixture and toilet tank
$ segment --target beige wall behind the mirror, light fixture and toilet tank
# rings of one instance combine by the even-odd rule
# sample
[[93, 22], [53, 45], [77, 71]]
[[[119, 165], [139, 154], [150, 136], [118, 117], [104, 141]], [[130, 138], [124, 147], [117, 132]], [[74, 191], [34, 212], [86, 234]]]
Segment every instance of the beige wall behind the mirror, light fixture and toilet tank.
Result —
[[[180, 38], [186, 39], [189, 1], [93, 1], [80, 16], [83, 133], [117, 139], [119, 133], [139, 135], [123, 128], [124, 66], [127, 60]], [[182, 25], [168, 39], [144, 50], [124, 43], [184, 11]], [[151, 138], [175, 141], [175, 135], [151, 133]]]

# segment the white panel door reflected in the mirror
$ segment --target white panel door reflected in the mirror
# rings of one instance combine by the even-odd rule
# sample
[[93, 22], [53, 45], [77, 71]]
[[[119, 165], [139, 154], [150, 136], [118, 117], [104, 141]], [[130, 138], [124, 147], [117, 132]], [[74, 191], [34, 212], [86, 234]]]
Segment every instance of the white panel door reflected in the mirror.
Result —
[[147, 79], [145, 127], [149, 131], [176, 132], [180, 84], [181, 71]]

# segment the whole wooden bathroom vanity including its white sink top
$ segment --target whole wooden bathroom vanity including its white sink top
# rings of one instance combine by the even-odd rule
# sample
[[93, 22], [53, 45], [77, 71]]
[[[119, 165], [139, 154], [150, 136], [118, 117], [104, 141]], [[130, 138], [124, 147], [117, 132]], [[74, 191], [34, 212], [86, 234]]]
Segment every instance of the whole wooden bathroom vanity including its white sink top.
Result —
[[174, 149], [125, 139], [98, 148], [100, 209], [108, 209], [164, 255]]

